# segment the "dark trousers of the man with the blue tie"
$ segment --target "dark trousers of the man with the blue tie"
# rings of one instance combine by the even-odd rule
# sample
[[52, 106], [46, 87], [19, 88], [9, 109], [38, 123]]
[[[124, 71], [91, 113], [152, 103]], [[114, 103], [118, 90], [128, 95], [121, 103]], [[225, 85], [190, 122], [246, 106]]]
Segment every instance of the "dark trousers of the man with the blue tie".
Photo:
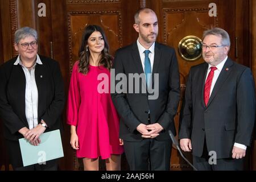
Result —
[[123, 141], [131, 171], [170, 170], [171, 140], [143, 139], [141, 142]]

